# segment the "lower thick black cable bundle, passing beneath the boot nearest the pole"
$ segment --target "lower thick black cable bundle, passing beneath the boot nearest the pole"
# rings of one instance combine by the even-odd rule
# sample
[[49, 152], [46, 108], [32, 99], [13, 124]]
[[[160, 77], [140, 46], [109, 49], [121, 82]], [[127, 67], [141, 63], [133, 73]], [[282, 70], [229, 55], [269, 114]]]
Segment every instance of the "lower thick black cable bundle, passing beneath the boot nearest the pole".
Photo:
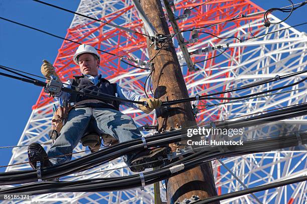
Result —
[[[302, 142], [307, 142], [307, 134], [302, 135]], [[265, 142], [265, 143], [263, 143]], [[202, 151], [190, 155], [190, 159], [185, 159], [185, 161], [179, 160], [174, 163], [183, 163], [184, 169], [177, 172], [170, 172], [170, 166], [174, 163], [162, 167], [158, 170], [153, 170], [149, 172], [144, 172], [144, 179], [146, 184], [151, 184], [168, 177], [177, 175], [186, 170], [189, 170], [203, 162], [211, 161], [221, 157], [230, 157], [237, 155], [250, 154], [252, 152], [263, 152], [273, 149], [280, 149], [285, 147], [290, 147], [297, 145], [298, 141], [296, 135], [290, 136], [278, 136], [274, 138], [266, 139], [255, 139], [251, 141], [246, 141], [244, 146], [239, 147], [227, 147], [226, 149], [221, 149], [221, 146], [212, 146], [210, 148], [206, 147]], [[235, 150], [235, 151], [234, 151]], [[201, 153], [200, 153], [201, 152]], [[195, 155], [198, 154], [197, 157]], [[193, 158], [194, 157], [194, 158]], [[133, 187], [139, 187], [140, 177], [138, 174], [113, 177], [113, 178], [93, 178], [78, 181], [59, 181], [59, 182], [38, 182], [33, 184], [25, 184], [22, 186], [16, 186], [12, 188], [6, 188], [0, 190], [1, 194], [4, 193], [17, 193], [17, 192], [29, 192], [31, 194], [42, 194], [48, 192], [69, 192], [69, 191], [107, 191], [107, 190], [119, 190], [127, 189]]]

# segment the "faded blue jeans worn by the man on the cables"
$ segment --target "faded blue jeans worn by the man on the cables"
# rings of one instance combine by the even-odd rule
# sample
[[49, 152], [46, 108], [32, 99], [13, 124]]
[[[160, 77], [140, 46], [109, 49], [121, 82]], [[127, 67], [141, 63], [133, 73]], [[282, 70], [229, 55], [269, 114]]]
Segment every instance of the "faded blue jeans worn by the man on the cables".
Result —
[[[69, 112], [60, 136], [48, 151], [49, 157], [55, 157], [50, 158], [50, 161], [56, 165], [71, 160], [70, 153], [87, 131], [109, 134], [119, 142], [141, 137], [133, 119], [118, 110], [94, 107], [74, 108]], [[57, 157], [64, 154], [69, 155]], [[124, 155], [124, 161], [127, 163], [135, 154]]]

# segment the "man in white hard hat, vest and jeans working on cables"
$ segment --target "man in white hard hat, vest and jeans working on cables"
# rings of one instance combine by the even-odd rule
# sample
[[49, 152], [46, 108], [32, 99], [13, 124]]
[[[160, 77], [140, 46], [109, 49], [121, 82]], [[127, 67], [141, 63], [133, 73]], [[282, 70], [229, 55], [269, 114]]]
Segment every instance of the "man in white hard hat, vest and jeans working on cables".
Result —
[[[147, 106], [135, 105], [131, 102], [119, 103], [114, 100], [99, 100], [88, 96], [71, 95], [64, 91], [57, 93], [56, 98], [74, 102], [75, 105], [69, 111], [67, 122], [62, 127], [48, 154], [38, 143], [29, 145], [29, 161], [34, 169], [36, 169], [37, 160], [42, 160], [41, 165], [43, 167], [50, 167], [71, 160], [73, 149], [88, 131], [95, 131], [100, 135], [110, 135], [119, 142], [140, 138], [141, 133], [133, 119], [119, 111], [119, 104], [138, 108], [147, 114], [161, 106], [162, 101], [160, 99], [142, 98], [138, 93], [127, 91], [116, 83], [110, 83], [107, 79], [102, 78], [101, 74], [98, 74], [100, 55], [91, 45], [81, 44], [76, 50], [73, 60], [80, 66], [82, 75], [74, 76], [74, 79], [68, 80], [66, 83], [72, 86], [64, 84], [65, 87], [76, 89], [75, 86], [77, 86], [80, 91], [92, 95], [99, 95], [97, 92], [101, 92], [124, 99], [146, 101]], [[47, 60], [43, 60], [43, 62], [41, 67], [43, 75], [46, 78], [56, 77], [60, 81], [53, 65]], [[123, 158], [132, 171], [139, 172], [145, 168], [163, 164], [163, 159], [158, 159], [158, 157], [165, 156], [169, 150], [168, 146], [144, 149], [140, 152], [124, 155]], [[139, 163], [146, 164], [133, 166]]]

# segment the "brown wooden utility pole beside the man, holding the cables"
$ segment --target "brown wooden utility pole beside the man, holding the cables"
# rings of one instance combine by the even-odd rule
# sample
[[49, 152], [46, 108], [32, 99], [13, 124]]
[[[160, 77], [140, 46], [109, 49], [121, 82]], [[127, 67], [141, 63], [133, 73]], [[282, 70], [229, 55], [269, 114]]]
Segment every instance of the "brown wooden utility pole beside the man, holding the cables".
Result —
[[[170, 34], [161, 0], [140, 0], [140, 4], [159, 34]], [[156, 50], [154, 45], [149, 46], [149, 43], [148, 40], [149, 58], [152, 58], [159, 50]], [[159, 45], [161, 46], [161, 44]], [[156, 98], [167, 101], [189, 97], [172, 40], [165, 44], [165, 47], [160, 50], [152, 62], [154, 63], [152, 83]], [[172, 105], [168, 110], [160, 108], [157, 110], [157, 119], [160, 130], [176, 127], [177, 124], [182, 127], [196, 125], [190, 102]], [[175, 145], [170, 146], [173, 150], [177, 148]], [[167, 182], [168, 203], [181, 202], [185, 198], [191, 198], [192, 195], [198, 195], [200, 199], [217, 195], [212, 172], [211, 163], [204, 163], [169, 178]]]

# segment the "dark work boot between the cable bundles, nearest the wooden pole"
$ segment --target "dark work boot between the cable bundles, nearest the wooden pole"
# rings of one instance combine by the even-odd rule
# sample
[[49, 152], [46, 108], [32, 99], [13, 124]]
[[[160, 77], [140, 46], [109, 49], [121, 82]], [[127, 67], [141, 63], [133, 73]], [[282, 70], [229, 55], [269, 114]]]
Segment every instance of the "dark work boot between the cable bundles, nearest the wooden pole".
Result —
[[130, 170], [133, 172], [140, 172], [146, 168], [159, 167], [169, 163], [167, 159], [168, 153], [171, 152], [171, 147], [163, 146], [145, 149], [136, 154], [129, 164]]

